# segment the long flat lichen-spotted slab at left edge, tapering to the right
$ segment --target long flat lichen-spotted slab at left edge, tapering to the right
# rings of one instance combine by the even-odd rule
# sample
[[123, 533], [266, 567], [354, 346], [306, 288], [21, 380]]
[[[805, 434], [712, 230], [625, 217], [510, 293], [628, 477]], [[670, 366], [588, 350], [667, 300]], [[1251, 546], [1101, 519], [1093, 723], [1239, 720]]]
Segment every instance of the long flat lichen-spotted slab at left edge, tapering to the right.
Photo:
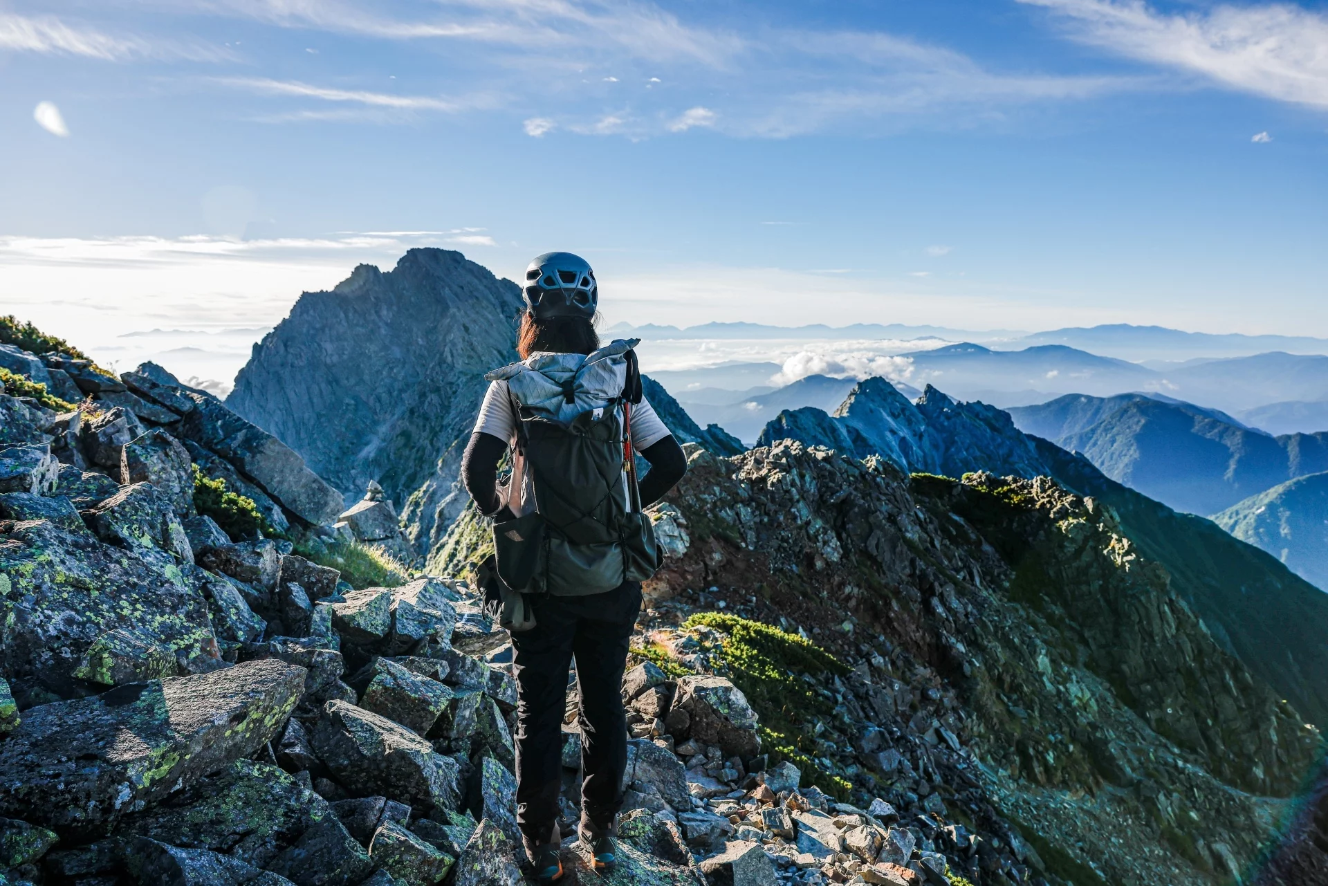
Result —
[[0, 741], [0, 816], [106, 833], [270, 741], [303, 684], [301, 668], [254, 662], [32, 708]]

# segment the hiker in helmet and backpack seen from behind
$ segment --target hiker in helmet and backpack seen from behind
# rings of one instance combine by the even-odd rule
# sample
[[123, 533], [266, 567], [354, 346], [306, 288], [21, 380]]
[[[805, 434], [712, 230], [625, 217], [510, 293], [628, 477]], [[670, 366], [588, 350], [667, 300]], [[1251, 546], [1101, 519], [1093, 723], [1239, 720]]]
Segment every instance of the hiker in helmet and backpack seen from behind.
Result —
[[[644, 506], [683, 478], [683, 449], [641, 396], [635, 341], [600, 347], [595, 272], [570, 252], [530, 263], [517, 352], [495, 369], [462, 457], [466, 490], [494, 518], [481, 566], [486, 610], [511, 632], [517, 679], [517, 824], [542, 883], [562, 878], [558, 798], [568, 665], [582, 732], [579, 838], [615, 863], [627, 716], [622, 681], [660, 563]], [[625, 434], [625, 437], [624, 437]], [[624, 438], [629, 442], [624, 445]], [[511, 452], [511, 473], [498, 466]], [[635, 457], [651, 469], [637, 482]]]

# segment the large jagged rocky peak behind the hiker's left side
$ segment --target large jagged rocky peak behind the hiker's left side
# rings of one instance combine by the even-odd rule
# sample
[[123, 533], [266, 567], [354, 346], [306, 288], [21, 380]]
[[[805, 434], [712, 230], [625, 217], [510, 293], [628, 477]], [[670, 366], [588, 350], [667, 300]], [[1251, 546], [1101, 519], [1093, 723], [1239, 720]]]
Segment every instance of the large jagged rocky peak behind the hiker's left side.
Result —
[[417, 248], [305, 292], [235, 379], [227, 405], [295, 448], [347, 503], [373, 480], [428, 549], [456, 497], [483, 375], [515, 359], [521, 291], [461, 252]]

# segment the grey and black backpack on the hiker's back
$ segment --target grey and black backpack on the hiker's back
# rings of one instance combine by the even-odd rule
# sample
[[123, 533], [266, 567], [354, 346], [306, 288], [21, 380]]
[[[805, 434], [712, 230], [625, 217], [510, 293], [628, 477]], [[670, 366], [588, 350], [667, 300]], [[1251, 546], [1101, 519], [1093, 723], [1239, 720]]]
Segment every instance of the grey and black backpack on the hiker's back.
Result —
[[531, 513], [493, 527], [506, 590], [603, 594], [660, 567], [631, 448], [631, 408], [641, 401], [636, 343], [612, 341], [590, 355], [539, 353], [486, 376], [507, 381], [523, 484], [534, 494]]

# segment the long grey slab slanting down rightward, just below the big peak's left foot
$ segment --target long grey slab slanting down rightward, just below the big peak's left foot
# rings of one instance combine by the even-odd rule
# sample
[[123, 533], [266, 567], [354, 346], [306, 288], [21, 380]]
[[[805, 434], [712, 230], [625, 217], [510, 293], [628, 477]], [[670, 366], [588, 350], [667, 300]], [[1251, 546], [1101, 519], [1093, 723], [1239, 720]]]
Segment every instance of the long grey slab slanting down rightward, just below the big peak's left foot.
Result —
[[231, 462], [307, 523], [329, 523], [341, 513], [341, 493], [309, 470], [295, 450], [244, 421], [215, 397], [193, 392], [186, 396], [194, 401], [194, 408], [181, 420], [181, 434]]

